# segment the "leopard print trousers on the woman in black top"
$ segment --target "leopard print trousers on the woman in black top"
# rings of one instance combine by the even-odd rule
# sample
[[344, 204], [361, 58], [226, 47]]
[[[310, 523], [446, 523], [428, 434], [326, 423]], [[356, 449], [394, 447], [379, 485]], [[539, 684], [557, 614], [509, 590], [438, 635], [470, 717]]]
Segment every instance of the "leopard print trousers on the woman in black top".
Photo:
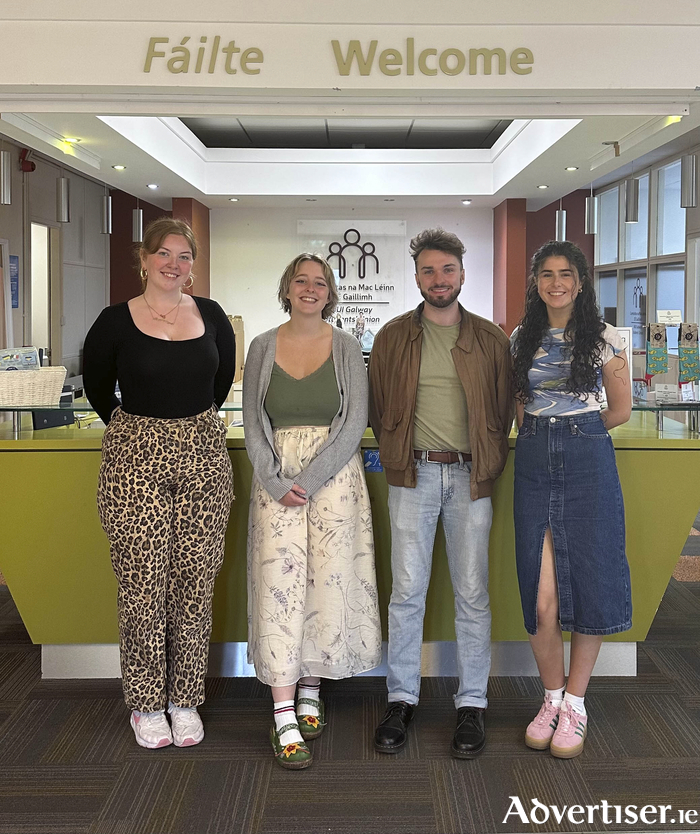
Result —
[[118, 583], [129, 709], [204, 701], [232, 500], [226, 427], [215, 406], [175, 420], [115, 412], [102, 441], [97, 505]]

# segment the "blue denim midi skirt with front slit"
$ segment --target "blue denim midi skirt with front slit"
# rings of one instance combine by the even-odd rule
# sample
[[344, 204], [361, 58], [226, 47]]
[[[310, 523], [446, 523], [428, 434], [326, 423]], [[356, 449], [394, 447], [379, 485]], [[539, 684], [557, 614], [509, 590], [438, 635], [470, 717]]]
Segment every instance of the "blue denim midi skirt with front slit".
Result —
[[632, 626], [625, 509], [615, 450], [598, 412], [525, 414], [515, 444], [515, 554], [525, 628], [537, 633], [542, 546], [552, 529], [563, 631]]

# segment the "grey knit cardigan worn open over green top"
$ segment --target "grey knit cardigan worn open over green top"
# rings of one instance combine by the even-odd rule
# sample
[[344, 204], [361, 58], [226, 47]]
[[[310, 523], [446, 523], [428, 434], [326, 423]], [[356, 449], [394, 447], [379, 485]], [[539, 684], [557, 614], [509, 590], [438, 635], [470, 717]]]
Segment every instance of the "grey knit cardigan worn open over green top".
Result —
[[313, 495], [336, 475], [357, 452], [367, 428], [367, 372], [359, 342], [333, 328], [333, 364], [340, 392], [340, 409], [333, 418], [328, 439], [316, 457], [293, 481], [280, 472], [265, 395], [270, 384], [277, 346], [277, 327], [250, 343], [243, 374], [243, 429], [250, 462], [258, 480], [279, 501], [296, 483]]

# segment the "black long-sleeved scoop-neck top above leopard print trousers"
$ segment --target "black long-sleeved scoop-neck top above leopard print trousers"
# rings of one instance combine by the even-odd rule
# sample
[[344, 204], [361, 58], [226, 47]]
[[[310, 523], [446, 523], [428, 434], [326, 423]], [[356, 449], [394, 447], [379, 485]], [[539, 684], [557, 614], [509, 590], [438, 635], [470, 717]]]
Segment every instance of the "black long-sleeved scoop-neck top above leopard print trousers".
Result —
[[204, 320], [204, 334], [196, 339], [174, 342], [143, 333], [127, 302], [97, 317], [85, 337], [83, 384], [105, 425], [119, 405], [129, 414], [172, 419], [225, 401], [236, 363], [233, 328], [216, 301], [193, 298]]

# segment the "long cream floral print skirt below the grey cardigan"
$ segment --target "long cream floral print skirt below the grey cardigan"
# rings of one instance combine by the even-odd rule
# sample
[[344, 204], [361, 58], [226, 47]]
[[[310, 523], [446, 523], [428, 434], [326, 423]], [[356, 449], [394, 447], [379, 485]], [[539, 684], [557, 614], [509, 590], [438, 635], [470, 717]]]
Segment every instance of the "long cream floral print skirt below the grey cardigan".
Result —
[[[327, 426], [275, 430], [284, 477], [316, 457]], [[253, 479], [248, 515], [248, 662], [270, 686], [347, 678], [381, 660], [372, 512], [358, 451], [302, 507]]]

